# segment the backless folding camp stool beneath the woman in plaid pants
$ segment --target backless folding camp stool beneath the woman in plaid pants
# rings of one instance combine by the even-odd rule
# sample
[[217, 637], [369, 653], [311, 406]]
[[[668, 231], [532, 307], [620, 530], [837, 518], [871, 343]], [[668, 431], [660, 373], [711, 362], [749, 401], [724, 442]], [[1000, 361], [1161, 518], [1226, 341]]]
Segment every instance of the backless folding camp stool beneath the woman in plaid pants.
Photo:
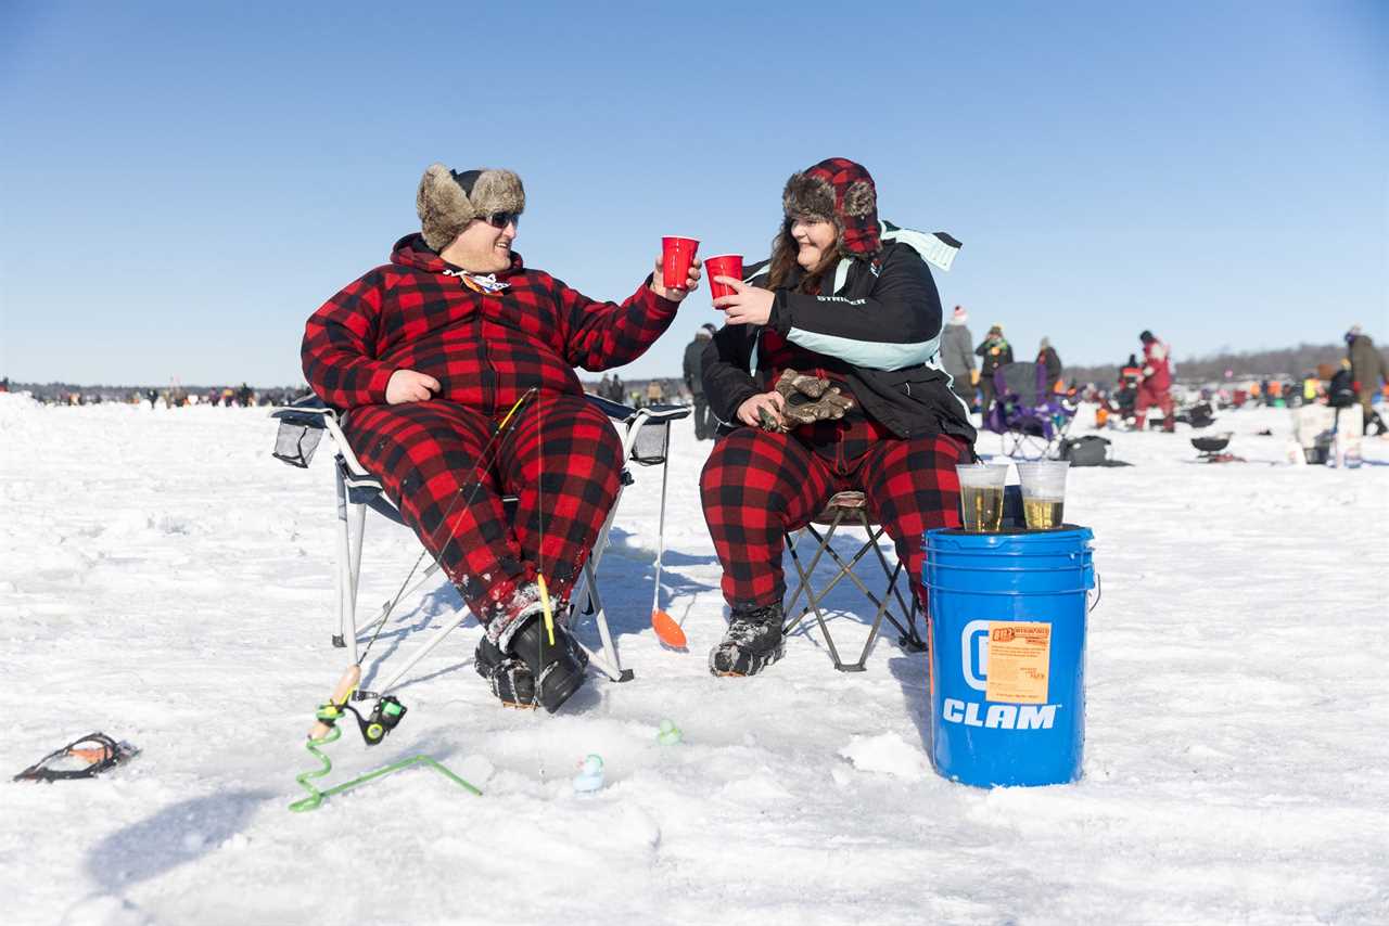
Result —
[[[853, 557], [845, 559], [839, 555], [839, 551], [833, 547], [833, 539], [840, 526], [861, 528], [867, 534], [863, 546]], [[818, 528], [826, 528], [824, 533]], [[807, 565], [801, 564], [801, 555], [797, 551], [797, 543], [801, 536], [808, 534], [815, 541], [815, 550], [810, 555]], [[886, 618], [892, 626], [897, 629], [901, 634], [897, 637], [897, 644], [908, 653], [924, 653], [926, 648], [925, 640], [921, 639], [921, 633], [917, 630], [917, 614], [920, 611], [917, 605], [917, 597], [911, 594], [910, 582], [907, 596], [911, 598], [911, 605], [908, 607], [901, 598], [901, 591], [897, 586], [899, 579], [901, 579], [903, 565], [899, 561], [896, 565], [889, 565], [888, 558], [882, 554], [878, 547], [878, 541], [883, 536], [882, 525], [874, 523], [868, 519], [868, 508], [864, 500], [864, 493], [861, 491], [840, 491], [829, 498], [825, 504], [824, 511], [821, 511], [815, 518], [801, 528], [786, 534], [786, 550], [790, 553], [790, 561], [796, 566], [796, 572], [800, 576], [800, 583], [790, 593], [790, 598], [786, 601], [785, 614], [788, 619], [782, 625], [782, 633], [790, 633], [800, 625], [808, 614], [815, 615], [815, 622], [820, 625], [820, 633], [825, 637], [825, 646], [829, 648], [829, 657], [835, 661], [835, 668], [840, 672], [863, 672], [868, 651], [872, 650], [874, 640], [878, 637], [878, 630], [882, 626], [883, 618]], [[888, 587], [879, 598], [868, 587], [868, 584], [854, 573], [854, 566], [868, 555], [874, 553], [878, 565], [882, 566], [882, 573], [888, 580]], [[815, 566], [820, 565], [822, 557], [829, 555], [838, 568], [835, 575], [825, 582], [820, 590], [811, 583], [811, 578], [815, 573]], [[825, 614], [822, 609], [822, 603], [825, 597], [833, 591], [843, 579], [849, 579], [858, 590], [872, 603], [875, 611], [872, 618], [872, 625], [868, 630], [868, 641], [864, 643], [863, 653], [858, 654], [857, 662], [846, 664], [839, 658], [839, 648], [835, 646], [835, 640], [829, 633], [829, 625], [825, 621]], [[806, 604], [801, 609], [796, 611], [796, 603], [800, 596], [806, 596]], [[893, 609], [893, 603], [896, 603], [897, 609]]]

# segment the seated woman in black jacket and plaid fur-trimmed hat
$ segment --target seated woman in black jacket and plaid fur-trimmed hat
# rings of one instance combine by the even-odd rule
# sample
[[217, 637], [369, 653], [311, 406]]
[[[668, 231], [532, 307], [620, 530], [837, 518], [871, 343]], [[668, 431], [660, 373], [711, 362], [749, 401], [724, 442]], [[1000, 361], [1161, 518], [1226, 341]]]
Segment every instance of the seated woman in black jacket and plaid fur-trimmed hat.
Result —
[[885, 240], [899, 229], [879, 224], [868, 171], [821, 161], [792, 175], [782, 205], [771, 258], [746, 283], [720, 278], [736, 292], [714, 303], [728, 325], [704, 358], [710, 408], [735, 428], [700, 478], [732, 611], [714, 675], [781, 658], [782, 537], [836, 491], [865, 494], [925, 603], [921, 534], [960, 523], [954, 466], [974, 458], [936, 360], [935, 282], [911, 244]]

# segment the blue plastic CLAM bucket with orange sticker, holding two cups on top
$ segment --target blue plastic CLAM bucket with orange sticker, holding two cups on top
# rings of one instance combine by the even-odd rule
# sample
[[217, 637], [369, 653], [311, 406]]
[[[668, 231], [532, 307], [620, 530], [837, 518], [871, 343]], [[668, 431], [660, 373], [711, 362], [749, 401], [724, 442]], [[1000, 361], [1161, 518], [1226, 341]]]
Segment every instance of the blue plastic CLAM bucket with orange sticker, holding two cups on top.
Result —
[[979, 787], [1081, 777], [1093, 536], [1070, 525], [926, 532], [931, 761], [945, 777]]

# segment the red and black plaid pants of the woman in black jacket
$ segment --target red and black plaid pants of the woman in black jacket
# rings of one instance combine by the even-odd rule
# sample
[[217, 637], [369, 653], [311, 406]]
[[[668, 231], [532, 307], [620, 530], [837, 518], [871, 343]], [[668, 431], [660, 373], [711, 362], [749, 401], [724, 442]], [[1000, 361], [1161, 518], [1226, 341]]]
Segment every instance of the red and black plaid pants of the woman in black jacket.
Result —
[[[861, 428], [861, 425], [860, 425]], [[836, 491], [863, 491], [870, 522], [881, 523], [925, 605], [921, 584], [922, 533], [960, 526], [956, 464], [972, 460], [954, 437], [883, 437], [864, 444], [846, 433], [845, 446], [865, 446], [857, 457], [815, 453], [799, 439], [739, 428], [714, 446], [700, 476], [704, 521], [724, 566], [731, 607], [778, 604], [786, 594], [783, 536], [806, 526]], [[853, 426], [846, 425], [851, 432]], [[817, 433], [820, 432], [820, 433]]]

